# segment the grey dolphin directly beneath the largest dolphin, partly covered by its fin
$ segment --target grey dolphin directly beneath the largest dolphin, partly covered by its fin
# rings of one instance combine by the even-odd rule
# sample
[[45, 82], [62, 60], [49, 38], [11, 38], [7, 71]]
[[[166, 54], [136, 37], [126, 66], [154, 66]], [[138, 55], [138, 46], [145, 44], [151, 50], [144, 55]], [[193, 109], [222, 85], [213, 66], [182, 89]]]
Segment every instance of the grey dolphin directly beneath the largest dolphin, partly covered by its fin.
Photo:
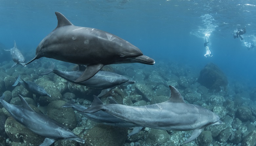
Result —
[[54, 74], [60, 76], [61, 78], [69, 82], [73, 82], [79, 85], [84, 85], [84, 86], [88, 86], [96, 89], [102, 89], [98, 97], [104, 96], [111, 89], [114, 89], [116, 86], [135, 83], [135, 81], [131, 81], [122, 75], [116, 74], [114, 72], [101, 71], [101, 70], [98, 71], [92, 78], [86, 81], [75, 82], [75, 80], [83, 74], [85, 69], [86, 69], [85, 65], [79, 65], [78, 71], [66, 72], [66, 71], [55, 70], [54, 64], [52, 64], [51, 67], [49, 67], [49, 69], [46, 72], [41, 74], [44, 75], [44, 74], [53, 72]]

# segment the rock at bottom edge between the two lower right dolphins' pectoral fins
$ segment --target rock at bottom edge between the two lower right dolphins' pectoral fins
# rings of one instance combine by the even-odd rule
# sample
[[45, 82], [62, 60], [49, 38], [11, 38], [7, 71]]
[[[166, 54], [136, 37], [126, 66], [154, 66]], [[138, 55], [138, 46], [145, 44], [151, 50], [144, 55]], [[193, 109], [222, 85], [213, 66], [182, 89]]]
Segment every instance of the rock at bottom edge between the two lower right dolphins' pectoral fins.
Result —
[[159, 146], [166, 142], [169, 138], [170, 135], [166, 132], [166, 130], [151, 129], [148, 132], [146, 144], [151, 146]]

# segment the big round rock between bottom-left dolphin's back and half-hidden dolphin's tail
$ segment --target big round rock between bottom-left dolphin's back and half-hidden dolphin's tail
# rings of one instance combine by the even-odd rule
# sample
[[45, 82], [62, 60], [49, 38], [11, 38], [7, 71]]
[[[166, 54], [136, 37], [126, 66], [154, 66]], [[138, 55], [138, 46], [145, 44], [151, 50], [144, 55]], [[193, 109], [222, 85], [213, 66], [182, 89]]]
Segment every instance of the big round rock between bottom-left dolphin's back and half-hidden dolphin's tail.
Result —
[[65, 125], [70, 130], [73, 130], [76, 127], [75, 112], [72, 108], [61, 107], [65, 103], [66, 102], [62, 100], [49, 103], [47, 106], [47, 115], [60, 124]]

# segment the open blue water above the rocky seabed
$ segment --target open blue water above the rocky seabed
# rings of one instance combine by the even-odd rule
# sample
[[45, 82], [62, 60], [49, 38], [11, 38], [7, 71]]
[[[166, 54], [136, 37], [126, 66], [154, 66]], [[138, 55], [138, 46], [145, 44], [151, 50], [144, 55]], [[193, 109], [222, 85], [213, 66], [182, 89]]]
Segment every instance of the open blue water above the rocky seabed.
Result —
[[[2, 0], [0, 43], [8, 49], [15, 40], [22, 52], [35, 51], [57, 26], [55, 11], [76, 26], [98, 28], [129, 41], [156, 64], [181, 62], [199, 73], [212, 62], [229, 82], [256, 85], [256, 48], [248, 51], [232, 34], [245, 27], [245, 42], [256, 43], [255, 0]], [[203, 56], [205, 34], [210, 34], [210, 58]]]

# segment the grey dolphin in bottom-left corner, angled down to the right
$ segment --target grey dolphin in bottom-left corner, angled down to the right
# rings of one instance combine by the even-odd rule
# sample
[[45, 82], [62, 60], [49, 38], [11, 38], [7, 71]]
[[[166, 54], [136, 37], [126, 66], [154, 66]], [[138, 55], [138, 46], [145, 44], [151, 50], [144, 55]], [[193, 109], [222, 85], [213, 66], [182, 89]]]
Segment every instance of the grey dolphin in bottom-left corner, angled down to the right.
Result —
[[34, 133], [42, 137], [46, 137], [40, 146], [50, 146], [55, 140], [60, 139], [74, 140], [80, 143], [85, 142], [64, 125], [45, 116], [44, 114], [34, 112], [21, 95], [19, 95], [19, 98], [22, 106], [9, 104], [3, 100], [4, 97], [4, 94], [0, 97], [0, 103], [16, 121]]

